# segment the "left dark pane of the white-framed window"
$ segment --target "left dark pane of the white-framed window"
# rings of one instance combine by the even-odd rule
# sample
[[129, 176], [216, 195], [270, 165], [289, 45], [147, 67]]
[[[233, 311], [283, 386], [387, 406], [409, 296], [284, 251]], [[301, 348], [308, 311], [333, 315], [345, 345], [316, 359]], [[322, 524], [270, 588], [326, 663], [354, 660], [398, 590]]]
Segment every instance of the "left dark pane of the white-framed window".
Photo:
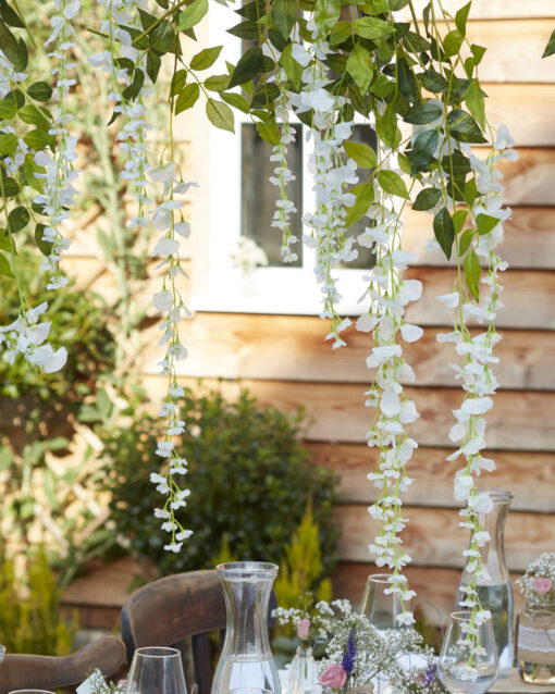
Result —
[[[295, 142], [287, 148], [287, 163], [295, 174], [295, 181], [287, 184], [287, 197], [297, 208], [297, 213], [291, 215], [291, 232], [301, 238], [303, 231], [300, 215], [303, 211], [303, 137], [300, 126], [295, 129]], [[268, 256], [269, 264], [273, 268], [299, 268], [303, 265], [303, 247], [300, 241], [292, 246], [298, 260], [284, 263], [281, 257], [281, 230], [271, 226], [275, 201], [280, 189], [270, 183], [270, 176], [276, 163], [270, 161], [272, 146], [266, 142], [257, 133], [256, 125], [242, 125], [240, 140], [240, 233], [252, 238], [261, 246]]]

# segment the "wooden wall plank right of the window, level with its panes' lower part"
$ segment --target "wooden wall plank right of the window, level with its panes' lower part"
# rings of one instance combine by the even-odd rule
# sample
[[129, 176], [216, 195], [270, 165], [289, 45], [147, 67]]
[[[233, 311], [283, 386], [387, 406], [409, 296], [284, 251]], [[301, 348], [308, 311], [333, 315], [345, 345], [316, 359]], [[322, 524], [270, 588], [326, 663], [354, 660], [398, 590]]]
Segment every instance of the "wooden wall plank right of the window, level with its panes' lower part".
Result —
[[[555, 185], [555, 166], [554, 166]], [[429, 238], [433, 238], [433, 216], [425, 212], [410, 210], [406, 215], [404, 233], [405, 250], [418, 253], [415, 264], [449, 267], [441, 251], [427, 250]], [[503, 245], [498, 253], [513, 270], [555, 270], [555, 208], [514, 208], [513, 218], [504, 223]]]

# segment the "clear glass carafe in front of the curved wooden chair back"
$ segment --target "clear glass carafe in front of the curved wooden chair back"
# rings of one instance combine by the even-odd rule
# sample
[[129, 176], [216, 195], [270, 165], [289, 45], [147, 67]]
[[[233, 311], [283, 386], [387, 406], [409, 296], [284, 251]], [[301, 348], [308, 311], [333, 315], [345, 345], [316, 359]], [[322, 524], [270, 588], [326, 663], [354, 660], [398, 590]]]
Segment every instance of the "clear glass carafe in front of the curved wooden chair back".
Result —
[[281, 694], [268, 640], [268, 605], [278, 567], [261, 561], [232, 561], [215, 570], [222, 582], [227, 624], [211, 694], [239, 689]]

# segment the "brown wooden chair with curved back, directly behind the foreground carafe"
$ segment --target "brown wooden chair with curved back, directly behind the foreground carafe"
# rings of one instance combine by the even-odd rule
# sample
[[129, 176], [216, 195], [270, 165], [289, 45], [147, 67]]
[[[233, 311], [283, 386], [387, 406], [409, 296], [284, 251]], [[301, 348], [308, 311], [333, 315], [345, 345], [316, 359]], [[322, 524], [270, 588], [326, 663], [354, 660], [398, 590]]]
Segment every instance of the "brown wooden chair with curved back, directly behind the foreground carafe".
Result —
[[[269, 611], [276, 606], [272, 592]], [[215, 571], [190, 571], [153, 581], [134, 593], [122, 609], [127, 660], [132, 661], [135, 648], [144, 646], [173, 646], [183, 657], [184, 642], [190, 639], [195, 682], [199, 694], [210, 694], [212, 654], [208, 632], [219, 631], [223, 643], [225, 617], [223, 590]], [[270, 625], [274, 621], [270, 618]]]

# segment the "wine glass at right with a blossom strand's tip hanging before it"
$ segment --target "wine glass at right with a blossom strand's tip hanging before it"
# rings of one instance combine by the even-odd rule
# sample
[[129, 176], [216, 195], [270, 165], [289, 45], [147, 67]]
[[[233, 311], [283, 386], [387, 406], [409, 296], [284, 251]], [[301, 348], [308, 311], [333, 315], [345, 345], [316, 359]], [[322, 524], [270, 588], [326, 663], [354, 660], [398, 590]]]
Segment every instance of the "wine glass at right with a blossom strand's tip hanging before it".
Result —
[[437, 671], [453, 694], [482, 694], [497, 677], [498, 658], [491, 617], [452, 612], [443, 640]]

